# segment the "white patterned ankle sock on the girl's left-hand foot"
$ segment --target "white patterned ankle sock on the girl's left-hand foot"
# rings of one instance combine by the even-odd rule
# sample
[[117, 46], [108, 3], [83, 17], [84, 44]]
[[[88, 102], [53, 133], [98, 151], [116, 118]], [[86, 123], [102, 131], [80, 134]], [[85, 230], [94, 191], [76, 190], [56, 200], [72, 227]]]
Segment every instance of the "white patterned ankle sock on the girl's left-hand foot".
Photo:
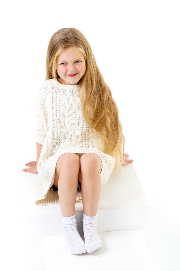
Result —
[[86, 252], [84, 241], [77, 231], [75, 214], [73, 216], [62, 216], [62, 232], [69, 250], [73, 254]]

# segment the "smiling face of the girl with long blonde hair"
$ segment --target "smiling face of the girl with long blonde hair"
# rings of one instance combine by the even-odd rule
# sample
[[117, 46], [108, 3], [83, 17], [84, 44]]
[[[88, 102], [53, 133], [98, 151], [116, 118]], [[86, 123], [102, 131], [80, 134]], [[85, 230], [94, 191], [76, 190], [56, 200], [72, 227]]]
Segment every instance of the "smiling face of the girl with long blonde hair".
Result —
[[[56, 70], [60, 78], [58, 82], [64, 85], [77, 84], [85, 74], [84, 56], [74, 46], [66, 49], [57, 57]], [[76, 74], [75, 76], [69, 76]]]

